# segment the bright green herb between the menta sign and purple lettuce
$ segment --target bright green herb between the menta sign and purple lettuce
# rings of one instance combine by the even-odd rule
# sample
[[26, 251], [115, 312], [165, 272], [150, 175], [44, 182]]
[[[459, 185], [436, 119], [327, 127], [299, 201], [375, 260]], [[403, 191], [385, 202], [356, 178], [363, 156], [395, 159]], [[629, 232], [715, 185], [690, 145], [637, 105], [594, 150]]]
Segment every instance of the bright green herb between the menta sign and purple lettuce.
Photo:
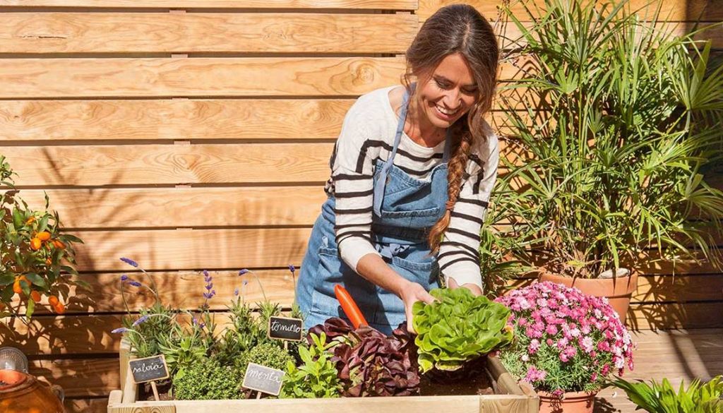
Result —
[[309, 334], [313, 344], [299, 346], [301, 365], [286, 363], [286, 375], [283, 378], [280, 399], [315, 399], [339, 397], [341, 382], [330, 352], [337, 341], [327, 343], [325, 333], [317, 336]]

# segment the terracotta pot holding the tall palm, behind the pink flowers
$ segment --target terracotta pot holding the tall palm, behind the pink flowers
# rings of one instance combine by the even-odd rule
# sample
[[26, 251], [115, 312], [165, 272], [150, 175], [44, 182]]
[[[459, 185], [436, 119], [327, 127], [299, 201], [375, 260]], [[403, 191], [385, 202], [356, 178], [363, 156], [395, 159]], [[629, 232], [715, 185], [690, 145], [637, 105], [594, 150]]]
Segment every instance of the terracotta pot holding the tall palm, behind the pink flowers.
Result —
[[628, 315], [630, 296], [638, 289], [638, 274], [634, 272], [632, 276], [619, 278], [572, 278], [542, 273], [539, 280], [575, 287], [583, 291], [583, 294], [593, 297], [607, 297], [612, 309], [617, 312], [620, 321], [623, 323], [625, 323], [625, 318]]

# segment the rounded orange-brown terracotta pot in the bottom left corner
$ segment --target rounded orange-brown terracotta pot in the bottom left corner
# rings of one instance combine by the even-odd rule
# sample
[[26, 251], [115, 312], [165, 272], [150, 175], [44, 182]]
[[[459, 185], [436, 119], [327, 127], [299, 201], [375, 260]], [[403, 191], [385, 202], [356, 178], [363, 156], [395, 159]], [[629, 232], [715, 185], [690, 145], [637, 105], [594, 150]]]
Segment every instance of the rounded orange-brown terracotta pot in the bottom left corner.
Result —
[[0, 412], [65, 412], [50, 387], [32, 375], [17, 370], [0, 370], [0, 382]]

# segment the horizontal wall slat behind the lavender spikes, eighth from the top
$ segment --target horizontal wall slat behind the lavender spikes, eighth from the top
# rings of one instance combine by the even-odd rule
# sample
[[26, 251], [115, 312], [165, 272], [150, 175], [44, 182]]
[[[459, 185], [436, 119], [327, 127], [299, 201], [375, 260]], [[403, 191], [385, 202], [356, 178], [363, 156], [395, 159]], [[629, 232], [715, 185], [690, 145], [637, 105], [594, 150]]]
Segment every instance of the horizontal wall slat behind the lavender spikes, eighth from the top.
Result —
[[[299, 265], [296, 265], [299, 267]], [[128, 267], [129, 268], [129, 267]], [[129, 268], [132, 269], [132, 268]], [[304, 273], [304, 268], [297, 271]], [[127, 273], [132, 279], [150, 285], [145, 276]], [[254, 271], [261, 281], [264, 294], [255, 278], [250, 274], [239, 277], [237, 271], [210, 271], [216, 296], [208, 304], [212, 310], [224, 310], [226, 304], [234, 299], [234, 290], [249, 302], [260, 302], [265, 297], [271, 301], [289, 306], [294, 301], [294, 279], [288, 270]], [[152, 273], [153, 280], [158, 284], [158, 295], [164, 305], [182, 309], [195, 309], [204, 303], [202, 297], [202, 274], [200, 271], [178, 271]], [[70, 290], [70, 299], [61, 297], [67, 304], [67, 315], [87, 314], [92, 312], [124, 312], [126, 309], [121, 298], [120, 275], [118, 273], [82, 274], [80, 279], [90, 284], [89, 290]], [[244, 284], [247, 281], [247, 284]], [[520, 288], [531, 284], [534, 278], [523, 278], [508, 281], [508, 286]], [[631, 299], [634, 304], [654, 304], [659, 302], [718, 302], [723, 300], [723, 274], [711, 275], [678, 275], [678, 276], [641, 276], [638, 278], [638, 290]], [[124, 286], [124, 296], [131, 311], [150, 307], [155, 297], [145, 287], [135, 288]], [[16, 296], [17, 297], [17, 296]], [[20, 301], [16, 299], [13, 307], [17, 308]], [[21, 312], [23, 311], [21, 307]], [[35, 307], [37, 315], [52, 314], [47, 298], [43, 297], [40, 305]]]

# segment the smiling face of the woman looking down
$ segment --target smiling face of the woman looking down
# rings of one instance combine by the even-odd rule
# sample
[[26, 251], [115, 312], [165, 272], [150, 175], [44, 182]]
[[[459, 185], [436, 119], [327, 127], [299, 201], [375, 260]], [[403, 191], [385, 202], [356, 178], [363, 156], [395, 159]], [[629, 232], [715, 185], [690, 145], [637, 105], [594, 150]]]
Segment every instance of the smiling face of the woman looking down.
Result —
[[461, 118], [479, 95], [472, 70], [461, 54], [446, 56], [431, 74], [419, 77], [418, 103], [432, 126], [447, 128]]

